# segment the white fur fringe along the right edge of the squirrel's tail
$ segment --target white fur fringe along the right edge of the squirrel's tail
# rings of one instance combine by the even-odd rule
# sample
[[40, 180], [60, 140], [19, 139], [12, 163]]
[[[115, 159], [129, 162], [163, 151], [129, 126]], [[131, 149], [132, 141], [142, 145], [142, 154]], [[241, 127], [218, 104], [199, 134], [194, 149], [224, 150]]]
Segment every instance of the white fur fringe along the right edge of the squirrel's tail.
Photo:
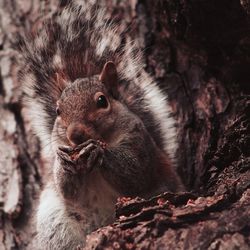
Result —
[[[137, 84], [145, 93], [143, 97], [147, 108], [154, 115], [163, 136], [165, 152], [173, 164], [176, 163], [176, 150], [178, 148], [175, 120], [171, 116], [172, 109], [167, 101], [166, 94], [163, 94], [153, 79], [143, 69], [142, 56], [140, 53], [134, 55], [137, 48], [136, 41], [128, 41], [124, 50], [125, 55], [118, 64], [118, 72], [121, 78], [128, 79]], [[138, 75], [140, 75], [138, 77]]]

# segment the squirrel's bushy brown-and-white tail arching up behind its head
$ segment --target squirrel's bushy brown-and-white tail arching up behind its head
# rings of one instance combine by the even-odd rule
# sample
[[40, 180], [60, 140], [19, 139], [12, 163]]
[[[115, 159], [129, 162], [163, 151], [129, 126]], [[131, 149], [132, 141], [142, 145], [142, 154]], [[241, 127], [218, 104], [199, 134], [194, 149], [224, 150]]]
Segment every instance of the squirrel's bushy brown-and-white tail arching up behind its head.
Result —
[[35, 132], [47, 145], [56, 118], [56, 101], [65, 87], [58, 79], [70, 83], [99, 74], [105, 62], [114, 61], [123, 101], [174, 159], [176, 131], [166, 96], [144, 71], [136, 42], [118, 33], [120, 27], [111, 21], [105, 3], [61, 1], [65, 8], [35, 36], [20, 42], [24, 58], [20, 76]]

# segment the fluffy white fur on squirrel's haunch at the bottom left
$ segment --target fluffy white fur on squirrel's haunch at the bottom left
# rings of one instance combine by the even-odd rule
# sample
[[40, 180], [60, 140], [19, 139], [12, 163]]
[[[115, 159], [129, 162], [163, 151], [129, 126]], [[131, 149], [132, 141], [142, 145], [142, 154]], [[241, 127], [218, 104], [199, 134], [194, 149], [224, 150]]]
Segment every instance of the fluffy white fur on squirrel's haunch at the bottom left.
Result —
[[84, 242], [86, 235], [80, 223], [69, 216], [69, 212], [56, 191], [52, 187], [45, 188], [36, 214], [38, 241], [43, 247], [70, 249]]

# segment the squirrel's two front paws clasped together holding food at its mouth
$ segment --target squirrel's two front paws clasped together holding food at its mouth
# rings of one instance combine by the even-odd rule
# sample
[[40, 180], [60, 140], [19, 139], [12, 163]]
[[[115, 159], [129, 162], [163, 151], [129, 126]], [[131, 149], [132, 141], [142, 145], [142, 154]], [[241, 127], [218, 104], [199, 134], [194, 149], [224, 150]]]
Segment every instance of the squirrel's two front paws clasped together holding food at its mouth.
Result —
[[103, 152], [106, 144], [90, 139], [77, 147], [60, 146], [57, 151], [63, 169], [72, 174], [89, 173], [103, 162]]

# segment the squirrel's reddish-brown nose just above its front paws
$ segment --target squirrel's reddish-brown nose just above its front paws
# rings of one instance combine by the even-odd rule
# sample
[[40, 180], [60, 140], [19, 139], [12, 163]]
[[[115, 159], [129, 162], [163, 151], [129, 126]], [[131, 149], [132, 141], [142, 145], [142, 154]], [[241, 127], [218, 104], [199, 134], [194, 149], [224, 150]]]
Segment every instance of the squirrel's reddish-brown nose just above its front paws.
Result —
[[66, 134], [70, 144], [73, 144], [74, 146], [80, 145], [85, 141], [85, 129], [79, 122], [71, 123], [67, 128]]

